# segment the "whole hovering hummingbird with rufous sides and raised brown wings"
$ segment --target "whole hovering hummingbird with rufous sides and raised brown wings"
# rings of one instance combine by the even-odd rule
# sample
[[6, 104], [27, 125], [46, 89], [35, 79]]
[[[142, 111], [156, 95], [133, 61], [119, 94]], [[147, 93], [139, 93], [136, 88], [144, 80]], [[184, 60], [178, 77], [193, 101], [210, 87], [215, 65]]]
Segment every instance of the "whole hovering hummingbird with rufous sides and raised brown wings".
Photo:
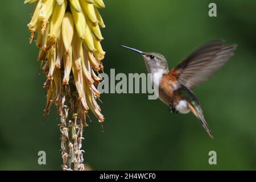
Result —
[[179, 111], [187, 114], [192, 111], [213, 138], [200, 102], [192, 90], [195, 86], [207, 81], [234, 55], [236, 44], [225, 45], [223, 40], [205, 43], [171, 70], [168, 68], [167, 60], [160, 53], [142, 52], [127, 46], [121, 47], [143, 56], [147, 71], [152, 74], [152, 85], [158, 86], [159, 99], [169, 106], [172, 113]]

